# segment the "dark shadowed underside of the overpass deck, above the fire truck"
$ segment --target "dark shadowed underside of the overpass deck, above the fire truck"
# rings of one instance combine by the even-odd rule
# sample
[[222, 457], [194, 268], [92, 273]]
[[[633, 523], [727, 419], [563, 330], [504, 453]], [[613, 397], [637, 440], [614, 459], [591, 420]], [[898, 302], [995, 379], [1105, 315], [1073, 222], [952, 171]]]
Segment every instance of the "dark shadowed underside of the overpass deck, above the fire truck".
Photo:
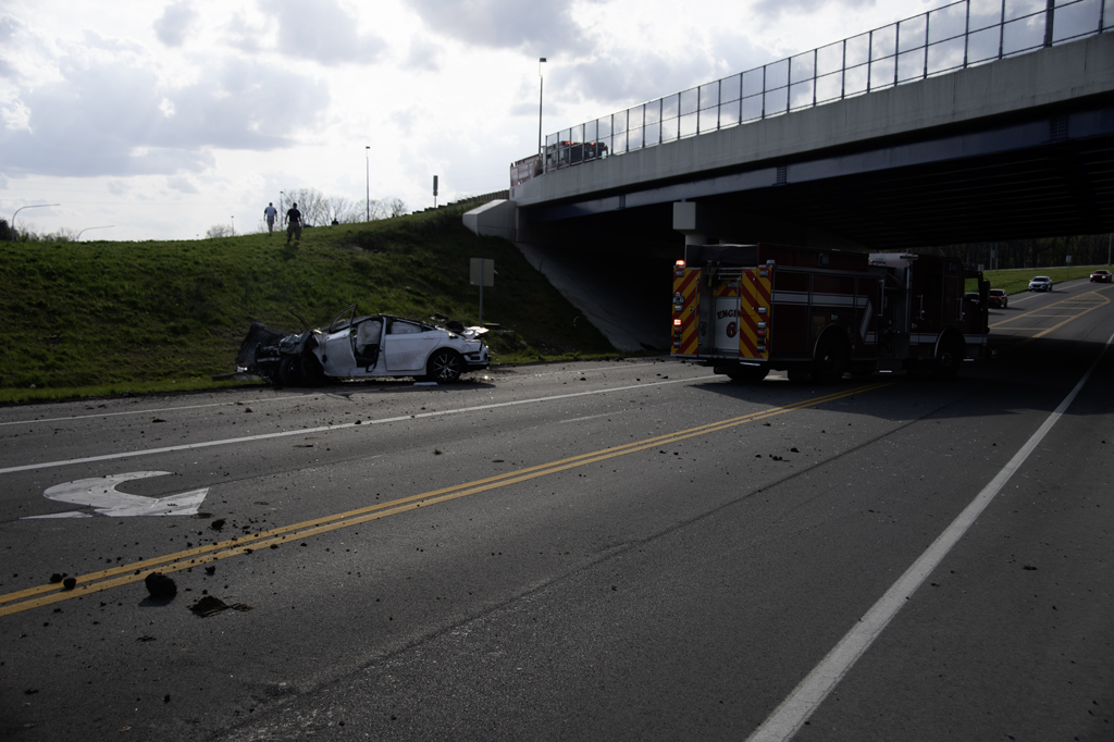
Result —
[[723, 194], [702, 202], [872, 250], [1114, 232], [1114, 138]]

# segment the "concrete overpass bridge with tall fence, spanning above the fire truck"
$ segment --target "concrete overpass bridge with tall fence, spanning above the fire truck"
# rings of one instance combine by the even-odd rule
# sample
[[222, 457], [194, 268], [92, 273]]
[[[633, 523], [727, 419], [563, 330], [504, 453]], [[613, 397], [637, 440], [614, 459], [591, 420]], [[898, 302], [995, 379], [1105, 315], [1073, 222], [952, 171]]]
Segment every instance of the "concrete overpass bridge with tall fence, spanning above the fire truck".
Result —
[[1112, 0], [960, 0], [550, 135], [466, 224], [566, 284], [592, 283], [589, 254], [665, 275], [686, 242], [1114, 232], [1112, 27]]

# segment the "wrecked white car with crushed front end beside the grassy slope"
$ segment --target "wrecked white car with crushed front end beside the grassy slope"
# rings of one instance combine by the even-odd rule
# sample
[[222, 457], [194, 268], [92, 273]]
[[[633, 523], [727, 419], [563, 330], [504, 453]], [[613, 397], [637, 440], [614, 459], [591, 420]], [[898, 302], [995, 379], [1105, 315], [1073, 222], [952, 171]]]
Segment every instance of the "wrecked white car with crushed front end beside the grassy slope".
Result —
[[236, 365], [272, 383], [319, 385], [329, 380], [403, 378], [453, 382], [488, 368], [483, 328], [439, 328], [388, 314], [355, 316], [355, 304], [328, 329], [291, 334], [252, 322]]

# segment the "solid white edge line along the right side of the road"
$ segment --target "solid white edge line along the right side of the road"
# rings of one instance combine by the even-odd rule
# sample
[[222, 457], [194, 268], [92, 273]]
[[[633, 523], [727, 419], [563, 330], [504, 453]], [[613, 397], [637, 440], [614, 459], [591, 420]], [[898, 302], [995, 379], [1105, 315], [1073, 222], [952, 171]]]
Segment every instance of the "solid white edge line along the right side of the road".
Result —
[[1014, 455], [1009, 463], [990, 480], [989, 485], [983, 488], [983, 491], [932, 541], [932, 545], [920, 555], [912, 566], [898, 578], [898, 582], [893, 583], [890, 589], [886, 590], [886, 594], [879, 598], [878, 603], [871, 606], [870, 611], [859, 619], [854, 628], [849, 631], [840, 640], [840, 643], [828, 653], [828, 656], [793, 689], [789, 697], [781, 702], [781, 705], [770, 714], [765, 722], [762, 723], [762, 726], [758, 728], [746, 738], [746, 742], [785, 742], [800, 731], [809, 716], [823, 703], [824, 699], [828, 697], [828, 694], [834, 690], [839, 682], [843, 680], [854, 663], [859, 661], [859, 657], [870, 648], [870, 645], [881, 635], [886, 626], [893, 619], [893, 616], [901, 609], [901, 606], [917, 592], [917, 588], [920, 587], [932, 570], [939, 566], [948, 551], [962, 538], [967, 529], [971, 527], [986, 507], [990, 505], [995, 496], [1006, 486], [1010, 477], [1025, 463], [1026, 459], [1028, 459], [1048, 431], [1052, 430], [1053, 426], [1063, 417], [1084, 384], [1087, 383], [1087, 379], [1091, 378], [1091, 374], [1098, 367], [1098, 362], [1106, 354], [1111, 342], [1114, 342], [1114, 335], [1111, 335], [1106, 340], [1103, 351], [1079, 380], [1079, 383], [1075, 385], [1075, 389], [1064, 398], [1064, 401], [1048, 416], [1044, 424]]

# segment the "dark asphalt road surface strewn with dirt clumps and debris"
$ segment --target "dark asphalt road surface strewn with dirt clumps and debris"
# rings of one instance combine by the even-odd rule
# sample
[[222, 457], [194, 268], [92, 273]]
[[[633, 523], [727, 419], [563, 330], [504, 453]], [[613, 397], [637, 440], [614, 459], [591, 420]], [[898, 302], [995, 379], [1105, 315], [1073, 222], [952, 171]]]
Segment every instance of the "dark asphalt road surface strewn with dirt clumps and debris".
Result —
[[950, 382], [0, 409], [0, 735], [1112, 740], [1112, 297], [1013, 297]]

